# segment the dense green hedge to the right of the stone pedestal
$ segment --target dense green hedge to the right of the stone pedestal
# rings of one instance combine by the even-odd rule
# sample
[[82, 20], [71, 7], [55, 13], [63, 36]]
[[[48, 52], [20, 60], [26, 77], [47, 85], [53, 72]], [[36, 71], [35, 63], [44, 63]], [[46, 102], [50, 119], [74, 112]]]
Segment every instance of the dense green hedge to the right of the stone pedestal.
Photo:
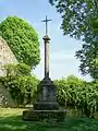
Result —
[[98, 82], [85, 82], [73, 75], [54, 81], [58, 102], [65, 107], [81, 108], [87, 117], [98, 109]]

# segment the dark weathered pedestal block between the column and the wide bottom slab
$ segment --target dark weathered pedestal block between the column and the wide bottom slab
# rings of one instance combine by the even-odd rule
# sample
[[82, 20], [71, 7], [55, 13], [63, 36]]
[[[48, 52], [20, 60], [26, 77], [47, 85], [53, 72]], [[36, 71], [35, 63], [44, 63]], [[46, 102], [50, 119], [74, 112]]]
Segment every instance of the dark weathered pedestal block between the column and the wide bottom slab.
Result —
[[34, 109], [37, 110], [57, 110], [57, 90], [50, 78], [45, 78], [38, 85], [38, 99], [34, 104]]

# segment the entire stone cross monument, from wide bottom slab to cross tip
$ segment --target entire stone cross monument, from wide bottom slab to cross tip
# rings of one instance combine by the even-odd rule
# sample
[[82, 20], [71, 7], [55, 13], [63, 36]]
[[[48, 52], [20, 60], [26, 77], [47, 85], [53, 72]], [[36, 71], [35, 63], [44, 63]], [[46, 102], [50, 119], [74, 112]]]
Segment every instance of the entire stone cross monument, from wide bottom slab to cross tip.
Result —
[[25, 110], [23, 111], [23, 119], [24, 120], [39, 120], [39, 119], [47, 119], [58, 120], [58, 117], [64, 116], [65, 111], [59, 110], [59, 104], [57, 103], [57, 88], [49, 78], [49, 36], [48, 34], [48, 20], [46, 22], [46, 35], [44, 36], [45, 43], [45, 78], [37, 86], [37, 94], [38, 97], [36, 103], [34, 104], [33, 110]]

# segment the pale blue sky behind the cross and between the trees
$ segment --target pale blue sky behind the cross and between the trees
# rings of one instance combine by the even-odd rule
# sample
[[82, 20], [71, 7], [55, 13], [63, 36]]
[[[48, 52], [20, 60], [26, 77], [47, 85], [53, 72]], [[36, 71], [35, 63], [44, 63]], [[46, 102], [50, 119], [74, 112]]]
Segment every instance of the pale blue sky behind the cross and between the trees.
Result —
[[61, 16], [57, 13], [54, 7], [51, 7], [48, 0], [0, 0], [0, 22], [7, 16], [19, 16], [28, 22], [36, 29], [40, 43], [40, 63], [33, 73], [38, 78], [44, 78], [44, 41], [46, 15], [52, 21], [48, 24], [48, 35], [50, 40], [49, 70], [52, 80], [66, 78], [74, 74], [79, 79], [90, 81], [90, 76], [83, 76], [78, 71], [79, 60], [75, 51], [81, 49], [83, 41], [69, 36], [63, 36], [60, 29]]

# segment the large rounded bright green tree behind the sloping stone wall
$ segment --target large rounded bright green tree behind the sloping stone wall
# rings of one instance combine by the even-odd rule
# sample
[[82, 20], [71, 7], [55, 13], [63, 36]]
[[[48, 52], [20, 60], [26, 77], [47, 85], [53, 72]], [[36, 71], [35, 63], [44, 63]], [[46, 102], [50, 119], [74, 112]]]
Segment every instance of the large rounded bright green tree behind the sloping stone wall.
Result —
[[40, 60], [38, 35], [24, 20], [9, 16], [0, 23], [0, 35], [7, 40], [19, 62], [35, 68]]

